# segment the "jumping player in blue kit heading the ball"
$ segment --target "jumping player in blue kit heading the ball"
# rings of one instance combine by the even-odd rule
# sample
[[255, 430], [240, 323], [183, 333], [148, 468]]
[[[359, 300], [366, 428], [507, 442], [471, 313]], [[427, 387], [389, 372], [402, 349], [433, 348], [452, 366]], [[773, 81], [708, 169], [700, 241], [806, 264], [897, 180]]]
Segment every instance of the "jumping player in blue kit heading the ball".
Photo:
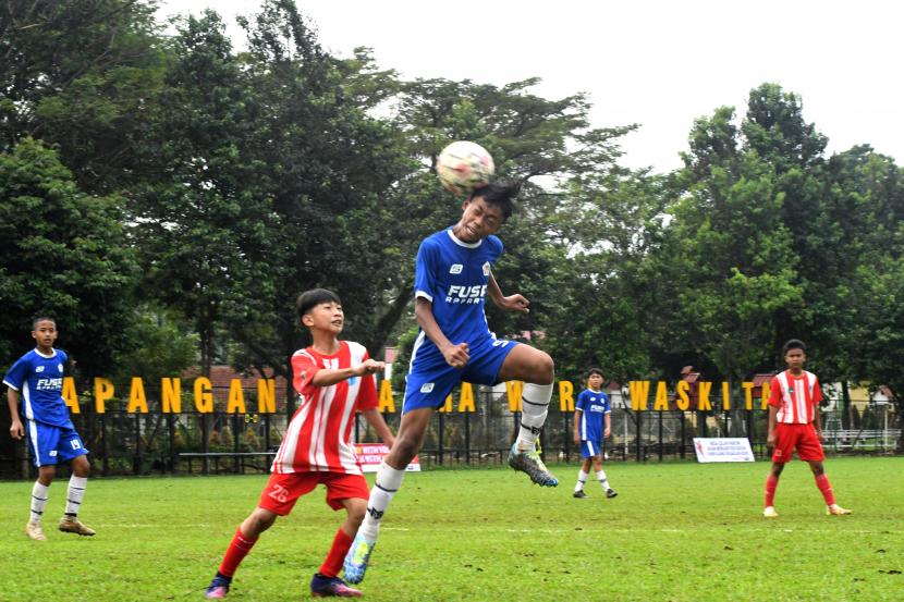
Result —
[[364, 579], [380, 519], [402, 484], [405, 467], [424, 444], [433, 411], [462, 381], [525, 382], [521, 429], [509, 465], [537, 484], [559, 484], [536, 450], [552, 396], [552, 358], [529, 345], [497, 339], [484, 312], [488, 295], [502, 309], [528, 311], [529, 302], [518, 294], [503, 295], [492, 275], [502, 255], [502, 242], [494, 234], [512, 214], [517, 189], [490, 184], [475, 191], [462, 204], [459, 223], [428, 236], [417, 251], [415, 317], [420, 332], [412, 351], [395, 445], [377, 474], [367, 515], [345, 556], [345, 578], [352, 583]]

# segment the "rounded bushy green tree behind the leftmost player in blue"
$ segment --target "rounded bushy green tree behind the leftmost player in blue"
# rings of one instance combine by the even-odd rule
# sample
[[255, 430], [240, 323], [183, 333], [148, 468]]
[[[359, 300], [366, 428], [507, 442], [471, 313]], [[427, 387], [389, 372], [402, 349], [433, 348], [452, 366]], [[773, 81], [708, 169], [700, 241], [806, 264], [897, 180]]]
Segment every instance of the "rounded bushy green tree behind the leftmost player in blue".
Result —
[[60, 344], [84, 376], [101, 374], [132, 342], [136, 263], [122, 200], [78, 189], [57, 152], [25, 138], [0, 155], [0, 356], [33, 342], [32, 318], [57, 319]]

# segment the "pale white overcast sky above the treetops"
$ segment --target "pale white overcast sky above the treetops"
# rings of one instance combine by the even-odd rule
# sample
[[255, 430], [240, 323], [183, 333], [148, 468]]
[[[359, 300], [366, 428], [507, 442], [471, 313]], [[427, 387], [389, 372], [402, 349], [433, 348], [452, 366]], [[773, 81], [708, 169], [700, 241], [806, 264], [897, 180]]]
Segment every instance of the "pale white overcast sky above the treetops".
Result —
[[[236, 14], [258, 0], [161, 0], [161, 16], [205, 8], [243, 36]], [[636, 123], [620, 163], [681, 165], [694, 120], [743, 114], [770, 82], [801, 96], [828, 152], [857, 144], [904, 164], [904, 8], [878, 0], [296, 0], [323, 48], [372, 49], [405, 78], [502, 86], [539, 77], [549, 99], [588, 96], [591, 125]]]

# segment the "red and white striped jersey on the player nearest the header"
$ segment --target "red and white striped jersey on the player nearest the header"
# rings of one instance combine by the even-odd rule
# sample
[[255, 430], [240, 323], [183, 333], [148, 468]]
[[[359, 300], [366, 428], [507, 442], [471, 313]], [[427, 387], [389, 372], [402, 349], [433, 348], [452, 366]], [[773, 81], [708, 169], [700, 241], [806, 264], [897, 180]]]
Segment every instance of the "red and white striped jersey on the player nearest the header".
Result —
[[374, 376], [353, 377], [330, 386], [314, 386], [311, 380], [322, 369], [352, 368], [367, 358], [367, 349], [350, 341], [340, 341], [333, 355], [319, 354], [313, 347], [295, 352], [292, 372], [300, 407], [273, 458], [273, 472], [362, 474], [349, 440], [355, 411], [378, 405]]

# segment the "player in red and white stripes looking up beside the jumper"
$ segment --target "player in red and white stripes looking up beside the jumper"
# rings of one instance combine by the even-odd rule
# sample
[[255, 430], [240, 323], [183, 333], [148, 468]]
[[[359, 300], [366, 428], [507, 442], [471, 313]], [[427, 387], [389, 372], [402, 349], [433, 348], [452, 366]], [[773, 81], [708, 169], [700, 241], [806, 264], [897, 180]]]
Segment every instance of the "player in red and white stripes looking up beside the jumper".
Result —
[[327, 504], [345, 508], [347, 516], [333, 539], [323, 564], [310, 581], [314, 595], [361, 595], [338, 573], [367, 511], [369, 491], [350, 439], [355, 411], [361, 411], [383, 443], [394, 438], [377, 409], [372, 374], [383, 369], [357, 343], [340, 341], [344, 315], [339, 297], [315, 288], [298, 296], [302, 324], [314, 344], [292, 357], [293, 384], [300, 407], [289, 422], [267, 487], [258, 506], [242, 523], [227, 549], [222, 564], [207, 588], [208, 599], [225, 598], [239, 564], [278, 516], [292, 512], [295, 502], [319, 483], [327, 488]]

